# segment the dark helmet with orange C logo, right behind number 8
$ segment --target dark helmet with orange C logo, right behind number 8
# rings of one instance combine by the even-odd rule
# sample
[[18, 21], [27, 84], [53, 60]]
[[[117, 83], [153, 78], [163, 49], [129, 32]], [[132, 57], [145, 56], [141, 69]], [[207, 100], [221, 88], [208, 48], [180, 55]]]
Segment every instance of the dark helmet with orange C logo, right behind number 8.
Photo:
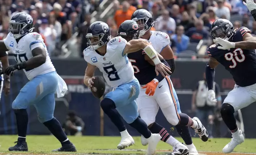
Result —
[[119, 26], [117, 35], [124, 38], [127, 42], [138, 39], [140, 35], [139, 25], [136, 21], [126, 20]]

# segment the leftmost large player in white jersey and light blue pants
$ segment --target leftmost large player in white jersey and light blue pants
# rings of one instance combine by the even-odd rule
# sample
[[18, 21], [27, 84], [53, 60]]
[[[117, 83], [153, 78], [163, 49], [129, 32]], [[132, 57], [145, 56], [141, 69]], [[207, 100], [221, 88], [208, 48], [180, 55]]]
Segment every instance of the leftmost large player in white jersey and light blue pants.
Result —
[[[35, 106], [38, 119], [60, 141], [62, 147], [53, 151], [76, 151], [68, 140], [59, 121], [53, 117], [55, 108], [54, 93], [64, 96], [64, 80], [56, 73], [47, 48], [40, 34], [33, 31], [33, 19], [26, 13], [17, 13], [9, 23], [9, 34], [0, 40], [0, 53], [12, 51], [17, 64], [10, 65], [4, 73], [12, 75], [23, 70], [29, 82], [20, 90], [12, 102], [16, 115], [18, 140], [9, 151], [28, 151], [26, 134], [28, 124], [27, 107]], [[62, 86], [62, 87], [61, 87]]]

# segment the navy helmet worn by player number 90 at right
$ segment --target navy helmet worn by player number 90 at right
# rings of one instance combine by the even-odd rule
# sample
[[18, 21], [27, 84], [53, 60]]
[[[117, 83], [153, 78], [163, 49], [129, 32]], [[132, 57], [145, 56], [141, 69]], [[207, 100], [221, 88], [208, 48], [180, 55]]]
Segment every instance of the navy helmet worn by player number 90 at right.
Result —
[[211, 25], [211, 36], [229, 40], [235, 33], [233, 24], [227, 19], [217, 19]]

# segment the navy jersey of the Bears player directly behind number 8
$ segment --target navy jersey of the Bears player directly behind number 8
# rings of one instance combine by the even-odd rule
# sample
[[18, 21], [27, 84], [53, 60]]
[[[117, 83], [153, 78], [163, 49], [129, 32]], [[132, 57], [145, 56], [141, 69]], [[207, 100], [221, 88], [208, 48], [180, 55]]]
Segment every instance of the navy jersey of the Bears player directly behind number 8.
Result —
[[145, 85], [155, 78], [155, 66], [145, 60], [145, 52], [143, 50], [129, 53], [128, 58], [134, 68], [134, 76], [141, 85]]

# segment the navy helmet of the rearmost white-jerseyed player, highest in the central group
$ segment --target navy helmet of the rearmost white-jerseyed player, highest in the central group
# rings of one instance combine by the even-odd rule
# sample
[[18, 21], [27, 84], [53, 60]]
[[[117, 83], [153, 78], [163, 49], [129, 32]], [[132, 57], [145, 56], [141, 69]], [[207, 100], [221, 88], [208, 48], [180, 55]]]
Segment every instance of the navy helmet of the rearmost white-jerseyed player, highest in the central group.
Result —
[[136, 21], [140, 26], [140, 36], [143, 36], [147, 30], [154, 26], [156, 21], [153, 21], [151, 13], [145, 9], [138, 9], [132, 14], [133, 21]]

